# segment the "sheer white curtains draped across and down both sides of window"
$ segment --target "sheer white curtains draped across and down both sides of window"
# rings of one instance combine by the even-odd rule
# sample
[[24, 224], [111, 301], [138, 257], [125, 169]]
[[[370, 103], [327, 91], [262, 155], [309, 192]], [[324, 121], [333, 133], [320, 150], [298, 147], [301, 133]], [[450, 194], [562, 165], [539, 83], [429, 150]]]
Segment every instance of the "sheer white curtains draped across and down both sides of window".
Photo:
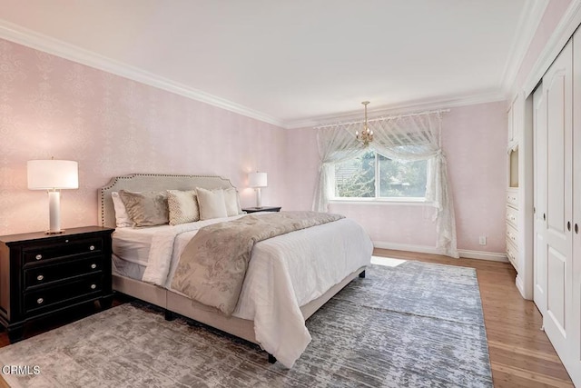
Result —
[[[355, 139], [361, 123], [339, 124], [320, 128], [320, 182], [313, 210], [326, 212], [333, 193], [331, 182], [334, 164], [356, 157], [365, 150]], [[448, 182], [446, 156], [441, 148], [441, 113], [409, 114], [369, 120], [374, 140], [369, 148], [399, 160], [428, 160], [426, 200], [435, 207], [434, 219], [438, 253], [458, 257], [456, 218]]]

